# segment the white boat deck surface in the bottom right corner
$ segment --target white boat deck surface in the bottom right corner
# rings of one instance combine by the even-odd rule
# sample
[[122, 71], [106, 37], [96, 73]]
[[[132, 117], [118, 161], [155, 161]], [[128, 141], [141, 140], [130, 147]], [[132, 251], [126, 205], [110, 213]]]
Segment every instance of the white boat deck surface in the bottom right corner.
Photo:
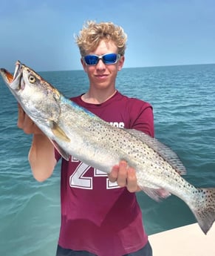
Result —
[[151, 234], [149, 241], [153, 256], [215, 256], [215, 224], [206, 235], [195, 223]]

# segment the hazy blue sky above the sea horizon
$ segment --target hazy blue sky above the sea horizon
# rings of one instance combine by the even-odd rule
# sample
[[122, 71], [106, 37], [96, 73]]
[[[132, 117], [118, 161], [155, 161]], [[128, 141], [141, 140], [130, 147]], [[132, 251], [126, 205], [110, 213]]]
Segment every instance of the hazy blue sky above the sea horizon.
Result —
[[214, 0], [10, 0], [0, 6], [0, 68], [81, 70], [74, 35], [88, 20], [123, 27], [125, 68], [215, 63]]

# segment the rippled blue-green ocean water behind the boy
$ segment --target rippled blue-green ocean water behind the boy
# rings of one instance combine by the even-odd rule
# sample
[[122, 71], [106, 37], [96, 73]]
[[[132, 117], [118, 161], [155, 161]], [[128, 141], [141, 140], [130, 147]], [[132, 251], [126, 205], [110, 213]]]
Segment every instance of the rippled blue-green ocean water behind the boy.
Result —
[[[41, 76], [66, 96], [88, 88], [81, 70]], [[61, 222], [60, 165], [44, 183], [34, 180], [27, 161], [31, 135], [17, 128], [17, 103], [1, 78], [0, 88], [0, 255], [53, 256]], [[185, 179], [215, 187], [215, 65], [125, 68], [117, 89], [153, 105], [156, 137], [180, 156]], [[160, 203], [142, 192], [137, 197], [148, 234], [196, 222], [178, 197]]]

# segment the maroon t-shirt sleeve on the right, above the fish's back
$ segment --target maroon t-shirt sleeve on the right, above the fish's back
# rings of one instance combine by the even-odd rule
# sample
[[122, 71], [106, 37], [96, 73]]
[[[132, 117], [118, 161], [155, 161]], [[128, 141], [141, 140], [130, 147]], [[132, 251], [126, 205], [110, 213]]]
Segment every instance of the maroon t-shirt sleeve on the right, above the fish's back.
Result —
[[153, 108], [148, 102], [135, 99], [130, 108], [130, 128], [154, 137]]

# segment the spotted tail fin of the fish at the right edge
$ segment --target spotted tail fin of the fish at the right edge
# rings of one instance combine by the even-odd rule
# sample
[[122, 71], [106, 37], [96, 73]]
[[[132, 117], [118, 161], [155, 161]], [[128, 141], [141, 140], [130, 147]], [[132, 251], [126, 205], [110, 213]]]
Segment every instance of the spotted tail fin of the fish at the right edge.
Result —
[[200, 228], [207, 234], [215, 221], [215, 188], [197, 188], [199, 200], [193, 213]]

